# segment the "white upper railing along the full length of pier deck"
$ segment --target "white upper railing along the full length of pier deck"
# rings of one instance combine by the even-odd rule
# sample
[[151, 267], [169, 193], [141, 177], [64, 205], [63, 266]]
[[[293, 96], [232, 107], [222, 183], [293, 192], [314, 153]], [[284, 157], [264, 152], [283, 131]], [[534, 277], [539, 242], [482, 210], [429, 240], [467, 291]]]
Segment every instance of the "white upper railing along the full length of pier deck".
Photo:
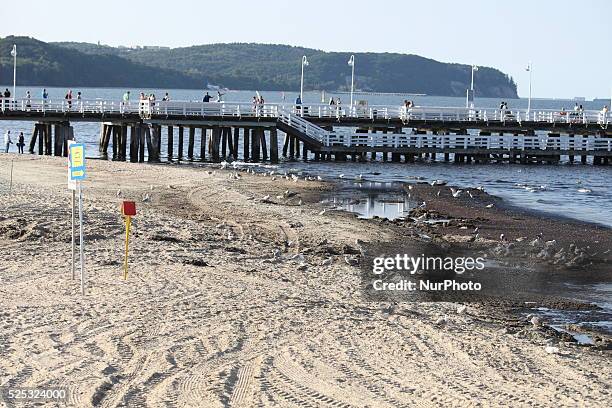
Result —
[[[0, 112], [82, 113], [139, 115], [152, 118], [159, 115], [215, 117], [278, 117], [279, 110], [302, 118], [327, 119], [395, 119], [409, 124], [416, 121], [437, 122], [501, 122], [501, 123], [570, 123], [598, 124], [612, 121], [612, 113], [596, 110], [565, 111], [553, 109], [478, 109], [430, 106], [344, 106], [327, 104], [252, 104], [240, 102], [199, 101], [121, 101], [104, 99], [7, 99], [0, 98]], [[294, 117], [295, 117], [294, 116]]]

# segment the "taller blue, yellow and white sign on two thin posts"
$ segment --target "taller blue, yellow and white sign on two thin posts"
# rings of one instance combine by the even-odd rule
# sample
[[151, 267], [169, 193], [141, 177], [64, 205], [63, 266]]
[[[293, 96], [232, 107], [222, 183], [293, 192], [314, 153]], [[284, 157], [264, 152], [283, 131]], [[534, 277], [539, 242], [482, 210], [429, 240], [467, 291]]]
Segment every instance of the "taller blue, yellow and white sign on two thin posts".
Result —
[[79, 195], [79, 258], [81, 265], [81, 294], [85, 294], [85, 255], [83, 242], [83, 186], [85, 178], [85, 145], [83, 143], [68, 143], [68, 188], [72, 190], [72, 274], [74, 277], [74, 196]]

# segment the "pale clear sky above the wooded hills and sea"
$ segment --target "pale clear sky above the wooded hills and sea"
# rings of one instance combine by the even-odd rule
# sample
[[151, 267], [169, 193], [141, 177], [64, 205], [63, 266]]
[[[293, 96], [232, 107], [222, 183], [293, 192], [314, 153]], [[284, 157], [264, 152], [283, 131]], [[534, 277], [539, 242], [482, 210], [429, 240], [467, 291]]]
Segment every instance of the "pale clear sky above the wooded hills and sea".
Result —
[[498, 68], [521, 97], [529, 93], [532, 61], [533, 97], [590, 99], [612, 92], [611, 19], [610, 0], [2, 0], [0, 37], [417, 54]]

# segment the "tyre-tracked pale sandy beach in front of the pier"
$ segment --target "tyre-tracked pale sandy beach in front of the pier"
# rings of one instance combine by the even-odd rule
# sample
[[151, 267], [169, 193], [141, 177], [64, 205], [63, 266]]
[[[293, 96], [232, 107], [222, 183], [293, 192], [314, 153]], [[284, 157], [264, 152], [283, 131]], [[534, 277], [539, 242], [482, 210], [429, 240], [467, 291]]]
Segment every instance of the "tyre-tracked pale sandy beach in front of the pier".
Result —
[[[609, 229], [536, 228], [541, 217], [485, 193], [467, 202], [427, 185], [412, 193], [450, 225], [361, 220], [324, 211], [333, 184], [218, 167], [90, 160], [81, 296], [66, 159], [0, 155], [0, 386], [68, 387], [77, 407], [612, 403], [606, 336], [581, 346], [502, 302], [372, 301], [352, 261], [426, 234], [533, 265], [589, 246], [554, 270], [595, 273], [609, 265]], [[138, 207], [127, 281], [122, 200]], [[548, 258], [529, 247], [538, 233], [557, 240]]]

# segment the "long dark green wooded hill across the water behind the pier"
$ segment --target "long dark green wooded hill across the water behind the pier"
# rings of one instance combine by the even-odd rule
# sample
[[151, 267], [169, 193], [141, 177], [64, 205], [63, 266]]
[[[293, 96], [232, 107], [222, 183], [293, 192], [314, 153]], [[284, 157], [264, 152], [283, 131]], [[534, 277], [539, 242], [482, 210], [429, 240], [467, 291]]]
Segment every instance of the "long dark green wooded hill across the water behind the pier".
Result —
[[[302, 55], [310, 62], [306, 89], [346, 91], [351, 80], [348, 52], [264, 44], [131, 49], [89, 43], [48, 44], [25, 37], [0, 40], [2, 77], [10, 71], [7, 56], [13, 43], [20, 51], [20, 82], [32, 85], [197, 89], [210, 83], [230, 89], [295, 91], [300, 85]], [[364, 91], [464, 96], [469, 86], [469, 65], [394, 53], [356, 53], [355, 59], [355, 86]], [[477, 76], [478, 96], [517, 96], [516, 84], [501, 71], [481, 67]]]

